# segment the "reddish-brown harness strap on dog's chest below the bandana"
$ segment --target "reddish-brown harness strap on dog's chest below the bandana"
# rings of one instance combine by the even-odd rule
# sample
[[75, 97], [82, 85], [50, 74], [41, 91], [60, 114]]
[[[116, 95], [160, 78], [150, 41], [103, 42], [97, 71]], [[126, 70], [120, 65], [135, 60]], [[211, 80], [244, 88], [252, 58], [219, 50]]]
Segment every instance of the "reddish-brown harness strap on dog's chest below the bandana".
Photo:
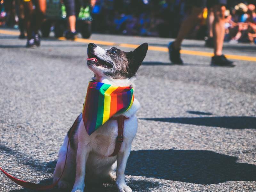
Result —
[[118, 124], [118, 131], [117, 131], [117, 137], [116, 137], [116, 146], [114, 149], [114, 152], [112, 153], [112, 155], [110, 155], [110, 157], [116, 156], [117, 153], [119, 152], [122, 142], [124, 140], [123, 134], [124, 134], [124, 120], [125, 119], [129, 119], [129, 117], [126, 116], [118, 116], [118, 117], [111, 117], [111, 119], [117, 120], [117, 124]]

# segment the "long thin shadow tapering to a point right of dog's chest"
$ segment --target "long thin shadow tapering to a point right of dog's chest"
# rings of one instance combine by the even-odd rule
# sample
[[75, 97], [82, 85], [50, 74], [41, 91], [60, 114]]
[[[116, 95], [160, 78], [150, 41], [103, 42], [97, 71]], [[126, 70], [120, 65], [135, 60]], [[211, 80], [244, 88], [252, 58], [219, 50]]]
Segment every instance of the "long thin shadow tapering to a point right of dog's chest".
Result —
[[228, 129], [256, 129], [256, 117], [223, 116], [223, 117], [172, 117], [172, 118], [139, 118], [150, 121], [223, 127]]

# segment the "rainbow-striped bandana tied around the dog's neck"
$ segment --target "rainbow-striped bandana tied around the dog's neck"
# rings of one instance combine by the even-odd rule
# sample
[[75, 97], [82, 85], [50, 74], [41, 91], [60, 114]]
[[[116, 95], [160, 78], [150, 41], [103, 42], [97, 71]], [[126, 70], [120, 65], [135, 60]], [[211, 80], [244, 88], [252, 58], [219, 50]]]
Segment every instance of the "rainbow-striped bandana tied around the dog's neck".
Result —
[[127, 111], [133, 100], [131, 86], [89, 82], [82, 112], [86, 132], [91, 135], [113, 115]]

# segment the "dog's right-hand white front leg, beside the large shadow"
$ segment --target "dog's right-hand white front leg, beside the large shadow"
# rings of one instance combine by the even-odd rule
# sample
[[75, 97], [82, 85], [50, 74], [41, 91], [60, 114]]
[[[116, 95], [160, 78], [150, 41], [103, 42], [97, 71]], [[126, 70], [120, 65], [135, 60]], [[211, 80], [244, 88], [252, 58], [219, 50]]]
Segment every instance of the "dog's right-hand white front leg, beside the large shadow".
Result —
[[132, 189], [126, 185], [124, 180], [124, 171], [130, 151], [131, 146], [125, 148], [123, 152], [120, 151], [117, 154], [116, 186], [118, 188], [118, 192], [132, 192]]

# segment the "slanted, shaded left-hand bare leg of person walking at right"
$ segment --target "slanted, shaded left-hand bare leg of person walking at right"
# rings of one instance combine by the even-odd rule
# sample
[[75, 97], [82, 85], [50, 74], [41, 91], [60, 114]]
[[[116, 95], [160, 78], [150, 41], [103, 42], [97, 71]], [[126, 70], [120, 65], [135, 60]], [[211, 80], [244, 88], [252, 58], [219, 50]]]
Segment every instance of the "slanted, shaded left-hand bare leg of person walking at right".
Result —
[[192, 8], [191, 14], [188, 16], [187, 19], [185, 19], [182, 22], [180, 26], [178, 36], [176, 37], [175, 42], [173, 43], [175, 49], [180, 49], [183, 39], [188, 35], [191, 28], [193, 28], [196, 25], [196, 23], [203, 17], [203, 11], [203, 8]]

